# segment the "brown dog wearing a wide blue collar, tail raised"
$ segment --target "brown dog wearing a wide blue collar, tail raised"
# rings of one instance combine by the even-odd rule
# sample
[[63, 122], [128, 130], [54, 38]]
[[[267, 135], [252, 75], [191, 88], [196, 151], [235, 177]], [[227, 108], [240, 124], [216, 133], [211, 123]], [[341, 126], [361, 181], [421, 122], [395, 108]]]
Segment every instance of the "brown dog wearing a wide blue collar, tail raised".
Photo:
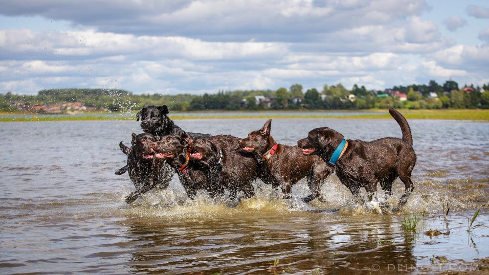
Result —
[[[360, 187], [365, 187], [369, 201], [377, 191], [378, 182], [387, 195], [392, 195], [392, 183], [399, 177], [406, 188], [399, 201], [401, 207], [406, 204], [414, 189], [411, 172], [416, 165], [416, 154], [411, 129], [406, 119], [394, 108], [390, 107], [389, 113], [398, 122], [402, 139], [380, 138], [369, 142], [348, 139], [343, 155], [335, 163], [335, 168], [341, 183], [355, 196], [359, 195]], [[323, 127], [309, 132], [309, 136], [297, 141], [297, 145], [303, 149], [304, 155], [316, 154], [323, 160], [330, 161], [343, 139], [340, 133]]]

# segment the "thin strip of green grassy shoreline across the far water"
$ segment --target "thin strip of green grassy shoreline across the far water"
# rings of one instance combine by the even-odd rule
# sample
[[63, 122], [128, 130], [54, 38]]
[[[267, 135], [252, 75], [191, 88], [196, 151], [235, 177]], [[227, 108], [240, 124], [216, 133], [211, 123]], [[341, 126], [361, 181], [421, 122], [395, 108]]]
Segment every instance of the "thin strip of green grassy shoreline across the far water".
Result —
[[[297, 112], [297, 115], [294, 113]], [[314, 112], [314, 111], [310, 111]], [[336, 112], [336, 111], [335, 111]], [[358, 112], [358, 111], [355, 111]], [[361, 112], [361, 111], [360, 111]], [[372, 115], [328, 115], [328, 112], [319, 111], [317, 115], [300, 115], [301, 111], [290, 111], [291, 115], [275, 115], [273, 111], [267, 112], [266, 115], [208, 115], [207, 113], [198, 113], [200, 115], [170, 115], [172, 119], [249, 119], [249, 118], [337, 118], [337, 119], [381, 119], [391, 118], [387, 110], [365, 110], [365, 112], [383, 112], [385, 114]], [[453, 120], [479, 120], [489, 121], [489, 110], [400, 110], [402, 115], [407, 119], [453, 119]], [[224, 112], [223, 112], [224, 113]], [[195, 113], [194, 113], [195, 114]], [[15, 113], [0, 113], [0, 122], [29, 122], [29, 121], [76, 121], [76, 120], [133, 120], [130, 116], [102, 116], [98, 114], [86, 116], [65, 116], [65, 117], [39, 117], [34, 118], [34, 114], [25, 114], [29, 117], [1, 117], [2, 115], [15, 115]]]

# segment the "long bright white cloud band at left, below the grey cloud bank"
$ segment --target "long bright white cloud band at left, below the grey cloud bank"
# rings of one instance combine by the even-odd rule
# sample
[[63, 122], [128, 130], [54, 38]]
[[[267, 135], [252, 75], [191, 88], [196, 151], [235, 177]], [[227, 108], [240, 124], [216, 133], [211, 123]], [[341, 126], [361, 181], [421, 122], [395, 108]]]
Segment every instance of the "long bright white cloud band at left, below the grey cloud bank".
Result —
[[[20, 32], [20, 33], [19, 33]], [[137, 54], [149, 57], [184, 57], [191, 60], [259, 59], [280, 57], [287, 45], [269, 42], [205, 42], [186, 37], [134, 36], [96, 32], [42, 32], [0, 30], [0, 45], [10, 52], [24, 55], [37, 52], [44, 55], [119, 56]]]

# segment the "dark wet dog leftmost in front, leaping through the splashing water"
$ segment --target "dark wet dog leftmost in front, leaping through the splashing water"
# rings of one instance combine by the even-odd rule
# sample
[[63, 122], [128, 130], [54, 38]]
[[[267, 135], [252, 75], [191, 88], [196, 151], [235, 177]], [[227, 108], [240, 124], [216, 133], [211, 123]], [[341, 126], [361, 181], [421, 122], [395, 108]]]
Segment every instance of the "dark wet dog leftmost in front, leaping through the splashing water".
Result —
[[160, 188], [168, 187], [173, 173], [164, 170], [164, 166], [155, 165], [155, 153], [151, 149], [151, 144], [156, 141], [155, 136], [151, 134], [133, 133], [131, 148], [125, 146], [122, 141], [119, 146], [127, 154], [127, 165], [115, 172], [116, 175], [122, 175], [129, 171], [129, 178], [134, 183], [136, 191], [126, 197], [127, 203], [132, 203], [139, 196], [151, 190], [156, 185]]

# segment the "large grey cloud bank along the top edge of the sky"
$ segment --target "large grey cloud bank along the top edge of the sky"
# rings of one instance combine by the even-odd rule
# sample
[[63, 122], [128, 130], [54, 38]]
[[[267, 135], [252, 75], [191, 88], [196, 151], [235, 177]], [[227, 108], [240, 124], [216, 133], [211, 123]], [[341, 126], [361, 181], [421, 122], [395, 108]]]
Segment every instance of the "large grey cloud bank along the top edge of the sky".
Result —
[[65, 20], [101, 32], [300, 41], [315, 33], [390, 24], [426, 10], [425, 0], [4, 0], [0, 14]]

